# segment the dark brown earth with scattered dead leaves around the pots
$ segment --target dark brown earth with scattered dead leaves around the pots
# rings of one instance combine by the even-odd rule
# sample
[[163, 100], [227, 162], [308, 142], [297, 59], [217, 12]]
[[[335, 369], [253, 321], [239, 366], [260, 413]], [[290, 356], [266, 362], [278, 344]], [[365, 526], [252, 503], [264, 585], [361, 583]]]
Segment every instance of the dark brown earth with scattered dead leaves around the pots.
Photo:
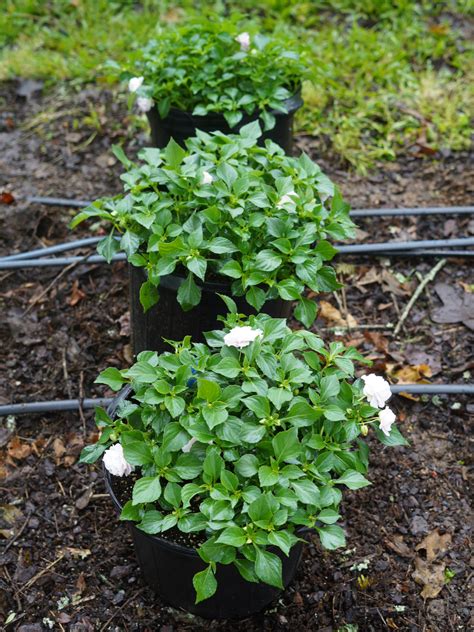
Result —
[[[137, 120], [107, 90], [49, 99], [33, 94], [26, 101], [17, 87], [4, 84], [0, 93], [1, 254], [91, 234], [91, 226], [71, 234], [73, 210], [28, 204], [26, 196], [114, 193], [121, 169], [110, 145], [124, 141], [133, 156], [147, 142]], [[406, 157], [363, 178], [329, 160], [316, 140], [301, 138], [298, 145], [320, 157], [355, 208], [472, 204], [467, 154]], [[474, 233], [466, 216], [359, 225], [364, 232], [358, 238], [365, 241]], [[472, 332], [460, 310], [450, 323], [431, 319], [439, 320], [443, 284], [454, 288], [459, 301], [472, 293], [469, 259], [448, 260], [393, 335], [419, 279], [436, 261], [341, 257], [346, 289], [318, 297], [316, 329], [356, 345], [374, 360], [375, 371], [393, 381], [469, 381]], [[110, 394], [93, 380], [106, 366], [132, 361], [125, 266], [0, 272], [0, 279], [0, 403]], [[143, 584], [100, 468], [77, 463], [94, 436], [90, 412], [3, 418], [0, 621], [15, 613], [8, 629], [20, 632], [472, 629], [468, 474], [474, 405], [440, 396], [394, 397], [392, 406], [411, 445], [389, 449], [370, 441], [373, 485], [348, 493], [343, 503], [347, 550], [324, 552], [315, 538], [280, 600], [245, 622], [198, 620], [170, 609]], [[414, 579], [416, 569], [421, 583]], [[437, 583], [439, 594], [425, 599], [422, 590], [433, 594]]]

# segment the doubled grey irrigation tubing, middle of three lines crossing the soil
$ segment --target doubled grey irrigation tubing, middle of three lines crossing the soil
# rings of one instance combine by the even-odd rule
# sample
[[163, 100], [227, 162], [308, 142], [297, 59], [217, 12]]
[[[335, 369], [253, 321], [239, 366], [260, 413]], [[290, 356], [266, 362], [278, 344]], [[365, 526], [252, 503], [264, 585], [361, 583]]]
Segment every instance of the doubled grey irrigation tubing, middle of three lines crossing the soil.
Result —
[[[49, 267], [49, 266], [67, 266], [73, 263], [105, 263], [104, 257], [100, 255], [89, 255], [85, 257], [56, 257], [53, 259], [41, 258], [41, 255], [55, 254], [66, 250], [81, 248], [83, 246], [92, 245], [100, 241], [102, 237], [89, 237], [87, 239], [79, 239], [65, 244], [57, 244], [47, 248], [31, 250], [30, 252], [22, 252], [16, 255], [9, 255], [0, 258], [0, 270], [16, 270], [33, 267]], [[348, 254], [380, 254], [387, 256], [474, 256], [474, 251], [469, 250], [439, 250], [440, 248], [451, 248], [454, 246], [474, 246], [474, 237], [464, 237], [460, 239], [426, 239], [419, 241], [393, 241], [374, 244], [349, 244], [337, 246], [338, 253]], [[435, 250], [433, 250], [435, 249]], [[35, 258], [35, 255], [40, 257]], [[112, 261], [124, 261], [126, 255], [120, 253], [112, 257]]]

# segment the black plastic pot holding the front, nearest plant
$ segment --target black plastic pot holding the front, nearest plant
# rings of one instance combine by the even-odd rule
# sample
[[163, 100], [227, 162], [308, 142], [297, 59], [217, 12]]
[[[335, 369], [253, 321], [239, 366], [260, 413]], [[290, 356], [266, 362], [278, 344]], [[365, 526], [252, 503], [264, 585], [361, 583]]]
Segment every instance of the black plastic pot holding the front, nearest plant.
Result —
[[[113, 490], [113, 478], [105, 468], [104, 473], [107, 491], [117, 510], [121, 511], [122, 506]], [[206, 568], [196, 551], [159, 536], [148, 535], [132, 522], [128, 526], [146, 583], [175, 608], [207, 619], [243, 619], [263, 610], [281, 593], [278, 588], [267, 584], [245, 581], [232, 564], [218, 564], [216, 593], [196, 605], [193, 576]], [[282, 560], [285, 588], [296, 573], [302, 548], [302, 542], [298, 542], [291, 549], [289, 557], [278, 549], [272, 549]]]

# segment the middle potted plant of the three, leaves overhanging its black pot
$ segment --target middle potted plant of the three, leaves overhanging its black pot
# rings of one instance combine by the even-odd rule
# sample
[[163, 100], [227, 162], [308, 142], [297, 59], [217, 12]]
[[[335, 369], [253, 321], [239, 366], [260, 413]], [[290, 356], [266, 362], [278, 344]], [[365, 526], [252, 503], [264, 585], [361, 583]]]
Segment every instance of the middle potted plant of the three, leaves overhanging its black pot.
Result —
[[73, 220], [104, 220], [111, 231], [98, 252], [127, 254], [135, 353], [163, 350], [162, 338], [202, 339], [224, 311], [217, 293], [272, 316], [288, 316], [296, 301], [310, 327], [317, 308], [305, 288], [339, 287], [328, 240], [353, 235], [348, 205], [306, 154], [286, 156], [269, 140], [259, 147], [261, 133], [257, 122], [237, 135], [199, 131], [185, 149], [171, 140], [142, 150], [138, 165], [116, 148], [125, 192]]

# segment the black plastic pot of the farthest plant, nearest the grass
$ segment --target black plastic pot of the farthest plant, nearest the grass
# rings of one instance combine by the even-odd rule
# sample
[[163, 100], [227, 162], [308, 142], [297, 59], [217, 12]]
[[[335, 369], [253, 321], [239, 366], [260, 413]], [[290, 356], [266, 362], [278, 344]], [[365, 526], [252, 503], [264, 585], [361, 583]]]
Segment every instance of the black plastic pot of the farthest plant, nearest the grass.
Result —
[[[266, 138], [270, 138], [285, 150], [286, 154], [291, 155], [293, 149], [293, 117], [302, 105], [301, 95], [295, 94], [285, 101], [288, 113], [273, 111], [276, 122], [275, 127], [265, 132], [259, 139], [259, 144], [263, 144]], [[244, 116], [240, 123], [235, 127], [230, 127], [222, 114], [210, 113], [207, 116], [195, 116], [189, 112], [183, 112], [171, 108], [166, 118], [162, 119], [158, 113], [158, 109], [153, 107], [147, 112], [148, 121], [151, 127], [151, 139], [154, 147], [166, 147], [170, 138], [180, 145], [184, 145], [184, 141], [191, 136], [196, 135], [196, 129], [204, 132], [220, 131], [224, 134], [236, 134], [238, 130], [247, 123], [255, 121], [257, 114], [252, 116]]]

